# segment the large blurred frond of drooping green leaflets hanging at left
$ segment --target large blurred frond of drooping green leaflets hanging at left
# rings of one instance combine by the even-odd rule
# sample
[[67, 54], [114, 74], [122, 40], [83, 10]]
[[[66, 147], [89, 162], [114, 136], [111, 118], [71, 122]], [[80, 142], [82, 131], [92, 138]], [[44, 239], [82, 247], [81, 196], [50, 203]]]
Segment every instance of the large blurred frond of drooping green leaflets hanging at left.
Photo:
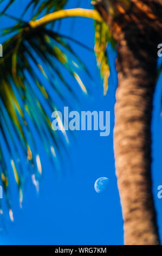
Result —
[[[5, 33], [12, 31], [15, 35], [4, 42], [0, 59], [0, 179], [11, 219], [9, 173], [14, 173], [22, 204], [27, 168], [35, 178], [42, 174], [42, 157], [34, 134], [55, 164], [64, 143], [61, 134], [51, 129], [51, 113], [67, 103], [67, 95], [77, 99], [69, 77], [87, 93], [79, 75], [80, 70], [87, 72], [86, 68], [58, 33], [46, 27], [31, 31], [19, 24]], [[68, 142], [66, 132], [62, 133]]]

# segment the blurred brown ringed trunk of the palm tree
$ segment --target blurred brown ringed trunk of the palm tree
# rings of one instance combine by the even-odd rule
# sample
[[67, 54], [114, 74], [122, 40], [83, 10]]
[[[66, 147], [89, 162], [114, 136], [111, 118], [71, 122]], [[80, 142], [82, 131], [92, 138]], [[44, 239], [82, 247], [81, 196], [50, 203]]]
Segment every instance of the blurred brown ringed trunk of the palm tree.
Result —
[[[158, 245], [159, 237], [151, 186], [151, 113], [157, 79], [157, 45], [161, 42], [158, 25], [147, 17], [135, 1], [111, 17], [100, 3], [98, 10], [112, 29], [118, 45], [119, 85], [116, 91], [114, 151], [116, 175], [124, 217], [126, 245]], [[111, 0], [109, 0], [111, 1]], [[118, 1], [114, 1], [119, 8]], [[104, 4], [104, 5], [103, 5]], [[118, 6], [117, 6], [118, 5]], [[149, 7], [149, 4], [148, 4]], [[154, 14], [161, 14], [161, 6]], [[107, 15], [107, 16], [106, 16]], [[149, 16], [153, 17], [149, 13]], [[154, 17], [155, 19], [155, 17]], [[161, 19], [161, 17], [160, 17]], [[156, 22], [158, 17], [156, 17]]]

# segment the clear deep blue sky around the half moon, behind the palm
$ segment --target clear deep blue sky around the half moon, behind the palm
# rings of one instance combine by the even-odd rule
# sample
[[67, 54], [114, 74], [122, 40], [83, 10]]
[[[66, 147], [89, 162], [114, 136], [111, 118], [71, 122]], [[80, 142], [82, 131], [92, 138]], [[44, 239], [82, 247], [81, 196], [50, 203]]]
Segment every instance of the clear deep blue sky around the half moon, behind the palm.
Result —
[[[69, 1], [67, 8], [74, 8], [73, 2]], [[81, 7], [92, 8], [87, 2], [82, 0]], [[23, 8], [24, 4], [21, 4]], [[20, 15], [18, 8], [18, 4], [13, 5], [9, 13], [14, 16]], [[8, 22], [11, 21], [8, 20]], [[4, 25], [8, 27], [11, 23], [7, 25], [7, 20], [3, 18], [0, 26]], [[90, 48], [94, 47], [92, 20], [66, 19], [61, 22], [59, 29], [61, 34], [70, 35]], [[60, 169], [51, 166], [48, 157], [44, 154], [40, 193], [36, 193], [31, 179], [28, 179], [24, 189], [23, 209], [18, 207], [16, 192], [12, 193], [12, 199], [15, 202], [15, 221], [11, 223], [9, 218], [5, 217], [7, 231], [0, 233], [0, 244], [121, 245], [124, 243], [113, 154], [115, 89], [118, 84], [115, 71], [116, 52], [111, 48], [108, 50], [111, 77], [108, 93], [103, 96], [95, 54], [72, 42], [70, 45], [86, 64], [93, 77], [90, 81], [83, 75], [83, 80], [88, 83], [90, 95], [80, 92], [80, 102], [74, 102], [74, 105], [70, 102], [73, 110], [111, 111], [111, 133], [108, 137], [100, 137], [99, 131], [75, 131], [68, 146], [69, 155], [64, 154]], [[152, 177], [158, 225], [162, 237], [160, 214], [162, 199], [157, 198], [157, 187], [162, 185], [161, 81], [160, 76], [154, 96]], [[74, 83], [73, 86], [76, 84]], [[94, 190], [94, 182], [101, 176], [106, 176], [109, 184], [105, 192], [98, 194]]]

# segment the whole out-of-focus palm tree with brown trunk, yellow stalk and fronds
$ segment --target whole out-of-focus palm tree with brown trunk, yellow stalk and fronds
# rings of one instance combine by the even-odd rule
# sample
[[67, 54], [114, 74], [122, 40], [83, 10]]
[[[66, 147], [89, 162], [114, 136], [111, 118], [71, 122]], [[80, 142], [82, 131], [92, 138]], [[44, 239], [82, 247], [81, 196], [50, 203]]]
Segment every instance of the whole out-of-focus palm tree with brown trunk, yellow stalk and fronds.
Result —
[[[8, 2], [2, 15], [6, 15], [6, 11], [13, 2], [14, 0]], [[50, 78], [56, 76], [70, 93], [72, 88], [64, 79], [57, 63], [61, 63], [77, 80], [83, 92], [87, 93], [85, 85], [75, 71], [76, 65], [73, 65], [73, 58], [77, 59], [86, 72], [85, 66], [64, 42], [62, 36], [54, 33], [52, 26], [49, 29], [46, 25], [52, 25], [56, 20], [69, 16], [88, 17], [95, 20], [95, 52], [101, 76], [104, 77], [105, 94], [109, 76], [106, 56], [108, 42], [111, 42], [118, 51], [116, 69], [119, 85], [116, 91], [114, 151], [124, 217], [125, 244], [158, 245], [159, 237], [151, 191], [150, 125], [152, 98], [158, 76], [157, 46], [162, 39], [160, 30], [162, 1], [98, 0], [92, 2], [95, 5], [94, 10], [64, 10], [62, 8], [66, 2], [67, 0], [31, 0], [24, 10], [25, 13], [33, 5], [34, 16], [31, 21], [23, 22], [21, 18], [17, 20], [16, 26], [4, 31], [8, 39], [3, 44], [3, 58], [0, 59], [2, 113], [0, 136], [3, 140], [0, 144], [0, 160], [1, 178], [7, 195], [10, 217], [12, 218], [8, 192], [8, 163], [4, 159], [2, 145], [10, 154], [11, 166], [20, 191], [20, 202], [22, 202], [20, 170], [23, 166], [21, 161], [18, 161], [21, 153], [17, 140], [21, 141], [21, 150], [23, 156], [27, 157], [27, 162], [36, 166], [34, 179], [37, 174], [41, 175], [42, 167], [30, 123], [37, 128], [49, 155], [55, 155], [55, 148], [51, 145], [59, 148], [60, 143], [60, 138], [51, 134], [50, 119], [42, 96], [46, 99], [49, 109], [58, 108], [58, 106], [50, 98], [48, 88], [42, 86], [36, 68], [47, 78], [51, 88], [63, 101], [66, 99], [63, 98], [61, 90]], [[46, 15], [37, 19], [44, 12]], [[46, 70], [39, 63], [40, 60], [46, 63], [48, 67]], [[42, 129], [34, 121], [36, 114], [39, 115], [39, 123], [44, 123]], [[66, 136], [66, 132], [63, 131], [63, 133]]]

